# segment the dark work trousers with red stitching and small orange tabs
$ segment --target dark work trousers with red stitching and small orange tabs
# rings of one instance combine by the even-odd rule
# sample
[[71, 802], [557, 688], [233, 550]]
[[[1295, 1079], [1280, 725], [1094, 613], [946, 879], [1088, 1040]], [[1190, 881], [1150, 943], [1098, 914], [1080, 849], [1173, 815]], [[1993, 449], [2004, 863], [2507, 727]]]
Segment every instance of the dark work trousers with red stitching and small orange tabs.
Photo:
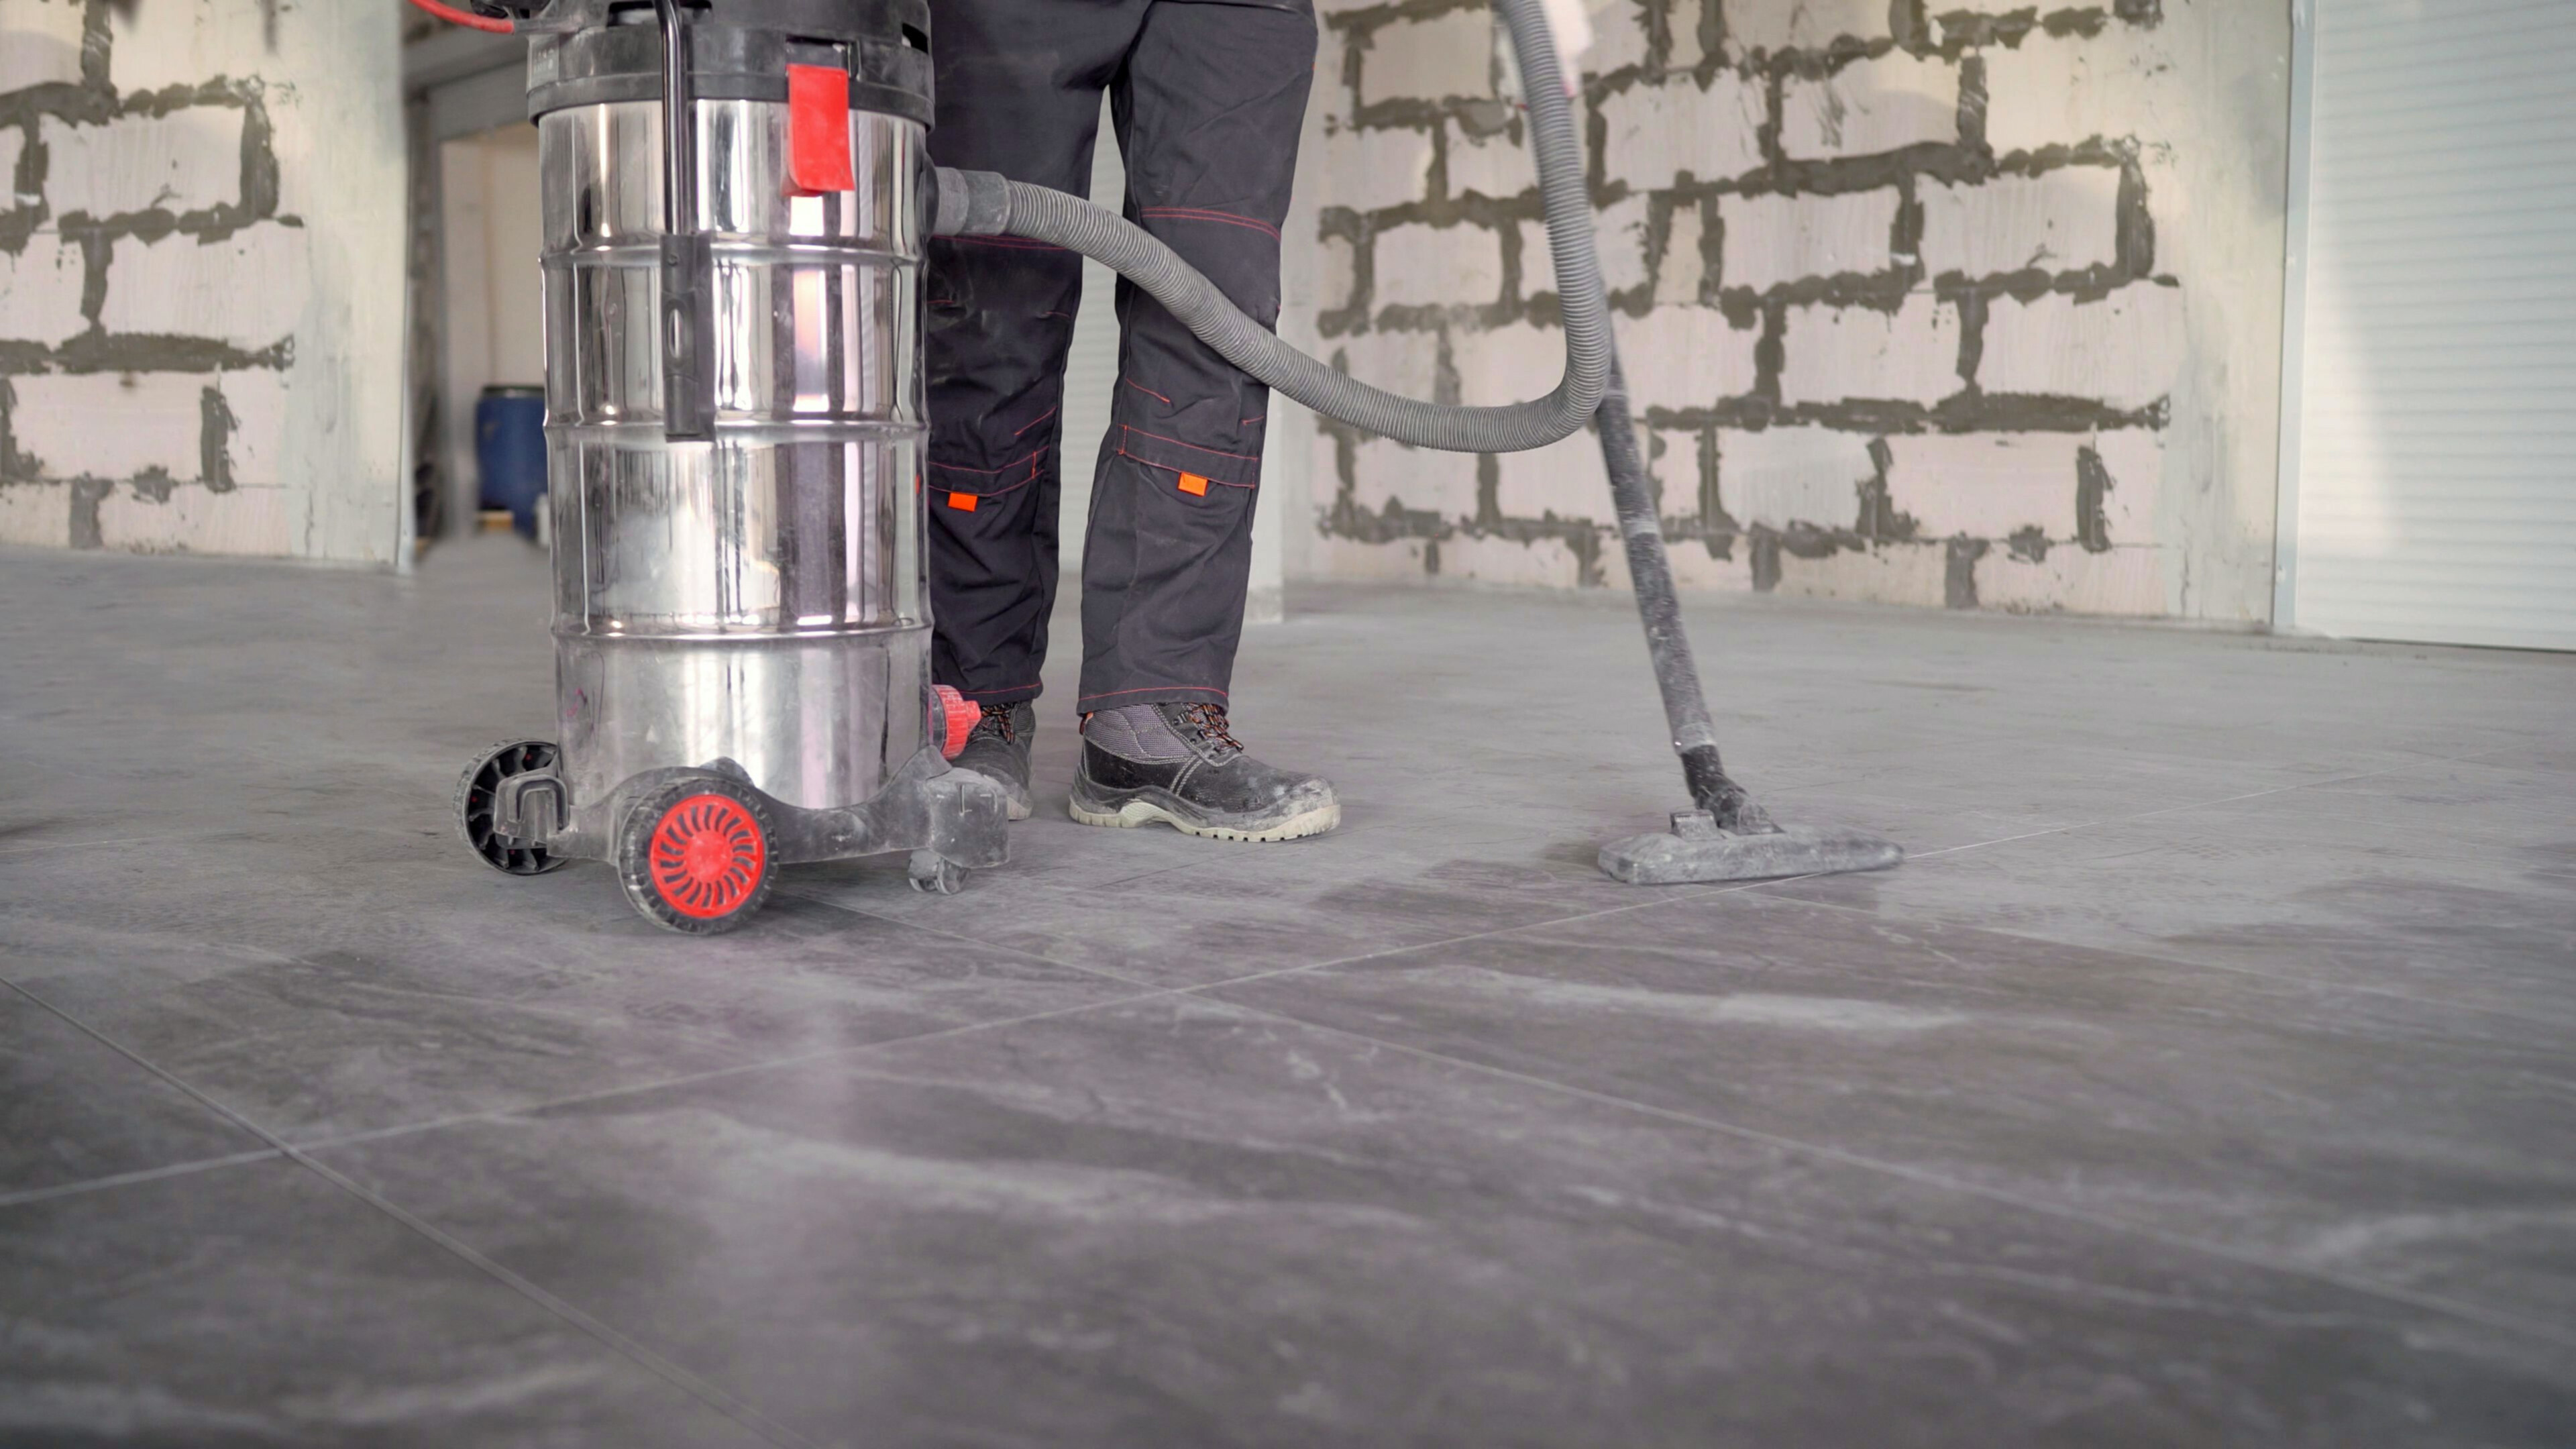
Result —
[[[1100, 93], [1126, 217], [1262, 325], [1314, 85], [1311, 0], [935, 0], [940, 165], [1090, 193]], [[1064, 358], [1082, 258], [930, 242], [935, 673], [979, 704], [1038, 696], [1056, 601]], [[1270, 389], [1118, 284], [1118, 397], [1082, 559], [1079, 712], [1224, 704], [1252, 580]]]

